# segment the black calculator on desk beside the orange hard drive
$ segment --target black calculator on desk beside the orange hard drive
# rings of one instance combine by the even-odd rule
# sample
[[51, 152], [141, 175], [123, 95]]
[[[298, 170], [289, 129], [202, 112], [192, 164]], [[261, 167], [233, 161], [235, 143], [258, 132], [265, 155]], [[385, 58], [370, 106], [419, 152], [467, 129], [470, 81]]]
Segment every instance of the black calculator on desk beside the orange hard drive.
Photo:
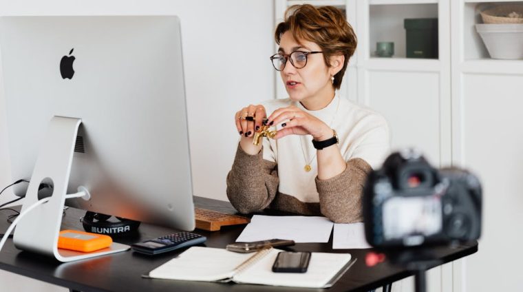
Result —
[[156, 255], [167, 251], [174, 251], [175, 249], [182, 249], [184, 247], [191, 247], [192, 245], [204, 243], [207, 238], [200, 236], [200, 234], [192, 232], [178, 232], [162, 236], [145, 242], [138, 242], [131, 245], [134, 251], [145, 253], [148, 255]]

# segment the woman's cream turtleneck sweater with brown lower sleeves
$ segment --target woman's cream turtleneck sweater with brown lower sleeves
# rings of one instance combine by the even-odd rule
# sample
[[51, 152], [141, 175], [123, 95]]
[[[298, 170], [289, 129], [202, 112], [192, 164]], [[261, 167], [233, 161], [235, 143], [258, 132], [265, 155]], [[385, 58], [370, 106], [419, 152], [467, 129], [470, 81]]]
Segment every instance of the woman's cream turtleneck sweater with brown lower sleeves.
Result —
[[[371, 169], [381, 166], [389, 153], [389, 128], [385, 118], [336, 94], [321, 110], [306, 110], [290, 99], [262, 103], [268, 114], [295, 105], [335, 129], [341, 156], [347, 167], [328, 180], [317, 178], [317, 158], [312, 136], [290, 135], [278, 140], [264, 138], [257, 155], [238, 146], [227, 176], [227, 196], [242, 213], [267, 207], [323, 215], [334, 222], [361, 222], [361, 190]], [[277, 129], [281, 126], [277, 125]], [[305, 171], [305, 165], [312, 167]]]

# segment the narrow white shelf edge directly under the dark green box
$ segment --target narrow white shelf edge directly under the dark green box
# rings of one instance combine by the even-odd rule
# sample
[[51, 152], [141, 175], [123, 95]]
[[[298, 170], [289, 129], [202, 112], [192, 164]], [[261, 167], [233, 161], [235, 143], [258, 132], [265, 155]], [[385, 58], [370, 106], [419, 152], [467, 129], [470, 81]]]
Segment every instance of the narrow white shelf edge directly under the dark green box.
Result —
[[378, 71], [440, 72], [437, 59], [371, 58], [363, 67]]

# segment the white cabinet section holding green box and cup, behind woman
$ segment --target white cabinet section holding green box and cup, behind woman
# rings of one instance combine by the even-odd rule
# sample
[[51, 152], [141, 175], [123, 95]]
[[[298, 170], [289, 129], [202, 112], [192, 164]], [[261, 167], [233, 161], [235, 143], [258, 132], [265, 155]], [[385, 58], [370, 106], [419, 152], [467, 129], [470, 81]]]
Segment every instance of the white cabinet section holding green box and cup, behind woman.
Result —
[[[449, 0], [359, 0], [358, 101], [387, 118], [392, 147], [418, 147], [434, 165], [451, 161]], [[438, 59], [405, 58], [407, 18], [438, 18]], [[374, 56], [394, 41], [394, 57]]]

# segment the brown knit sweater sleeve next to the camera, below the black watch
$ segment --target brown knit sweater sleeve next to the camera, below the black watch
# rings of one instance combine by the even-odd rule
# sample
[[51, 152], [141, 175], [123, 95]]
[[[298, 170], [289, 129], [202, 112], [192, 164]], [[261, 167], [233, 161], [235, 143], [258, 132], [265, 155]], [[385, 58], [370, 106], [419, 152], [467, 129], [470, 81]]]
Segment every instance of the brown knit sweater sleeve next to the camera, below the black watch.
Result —
[[345, 171], [334, 178], [319, 180], [316, 177], [321, 213], [336, 223], [363, 222], [362, 191], [371, 170], [365, 160], [354, 158], [347, 162]]

